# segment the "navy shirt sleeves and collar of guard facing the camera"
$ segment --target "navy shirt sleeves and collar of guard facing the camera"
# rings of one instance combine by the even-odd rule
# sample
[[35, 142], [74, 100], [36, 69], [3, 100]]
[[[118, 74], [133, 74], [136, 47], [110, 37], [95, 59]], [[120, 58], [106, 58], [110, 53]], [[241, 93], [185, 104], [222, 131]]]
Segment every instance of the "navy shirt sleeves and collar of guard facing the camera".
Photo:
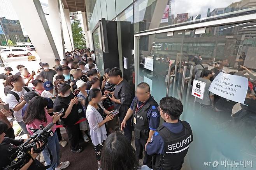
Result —
[[[153, 98], [152, 96], [150, 96]], [[130, 106], [130, 109], [133, 110], [133, 105], [135, 100], [137, 100], [137, 107], [139, 108], [143, 103], [140, 102], [137, 97], [133, 98], [132, 104]], [[136, 107], [136, 106], [135, 106]], [[147, 111], [147, 119], [149, 120], [149, 129], [150, 130], [156, 130], [158, 128], [159, 123], [160, 123], [160, 113], [157, 109], [157, 106], [152, 106], [148, 111]]]

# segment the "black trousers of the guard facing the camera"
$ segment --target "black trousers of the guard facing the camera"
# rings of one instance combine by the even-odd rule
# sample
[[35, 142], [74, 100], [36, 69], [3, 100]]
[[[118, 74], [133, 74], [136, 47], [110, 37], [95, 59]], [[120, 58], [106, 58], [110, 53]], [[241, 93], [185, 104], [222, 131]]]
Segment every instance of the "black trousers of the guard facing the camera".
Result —
[[149, 168], [151, 168], [152, 164], [152, 156], [148, 155], [145, 151], [145, 145], [147, 143], [147, 139], [143, 138], [136, 138], [135, 137], [135, 147], [136, 147], [136, 156], [138, 159], [142, 159], [144, 152], [144, 159], [143, 159], [143, 165], [147, 165]]

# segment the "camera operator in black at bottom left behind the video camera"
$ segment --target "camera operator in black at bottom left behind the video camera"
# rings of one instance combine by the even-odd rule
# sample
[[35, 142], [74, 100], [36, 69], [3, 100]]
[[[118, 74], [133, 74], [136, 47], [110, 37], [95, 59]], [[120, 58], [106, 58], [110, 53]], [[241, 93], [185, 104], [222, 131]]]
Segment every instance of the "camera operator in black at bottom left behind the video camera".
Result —
[[[16, 158], [18, 150], [20, 149], [19, 145], [23, 144], [24, 139], [15, 140], [12, 138], [5, 137], [5, 131], [8, 129], [8, 125], [0, 121], [0, 169], [2, 170], [5, 166], [10, 165], [11, 157]], [[37, 148], [42, 147], [42, 143], [37, 143]], [[31, 149], [31, 158], [20, 170], [33, 170], [35, 169], [35, 164], [33, 163], [34, 159], [37, 157], [38, 153], [34, 153], [33, 148]], [[15, 155], [16, 153], [16, 155]]]

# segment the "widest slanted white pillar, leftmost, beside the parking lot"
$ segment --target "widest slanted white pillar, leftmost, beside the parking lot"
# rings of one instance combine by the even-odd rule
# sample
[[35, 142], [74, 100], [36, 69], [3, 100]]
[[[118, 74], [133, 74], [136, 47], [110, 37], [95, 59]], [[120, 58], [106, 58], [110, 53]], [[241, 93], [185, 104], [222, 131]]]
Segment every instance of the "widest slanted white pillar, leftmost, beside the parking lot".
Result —
[[[24, 26], [42, 62], [54, 66], [54, 59], [60, 59], [44, 11], [39, 0], [10, 0], [14, 11]], [[29, 9], [28, 13], [24, 9]]]

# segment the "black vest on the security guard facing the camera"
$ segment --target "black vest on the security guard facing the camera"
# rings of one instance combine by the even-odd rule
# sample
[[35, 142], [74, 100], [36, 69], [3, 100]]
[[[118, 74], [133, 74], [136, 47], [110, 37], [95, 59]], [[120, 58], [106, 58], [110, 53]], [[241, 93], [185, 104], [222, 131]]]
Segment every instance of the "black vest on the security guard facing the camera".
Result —
[[152, 106], [158, 107], [158, 103], [151, 96], [149, 100], [140, 108], [136, 113], [137, 109], [137, 100], [135, 100], [133, 105], [133, 120], [136, 118], [136, 124], [133, 122], [134, 126], [134, 136], [136, 138], [144, 138], [147, 139], [149, 137], [149, 120], [147, 118], [147, 111], [152, 108]]

